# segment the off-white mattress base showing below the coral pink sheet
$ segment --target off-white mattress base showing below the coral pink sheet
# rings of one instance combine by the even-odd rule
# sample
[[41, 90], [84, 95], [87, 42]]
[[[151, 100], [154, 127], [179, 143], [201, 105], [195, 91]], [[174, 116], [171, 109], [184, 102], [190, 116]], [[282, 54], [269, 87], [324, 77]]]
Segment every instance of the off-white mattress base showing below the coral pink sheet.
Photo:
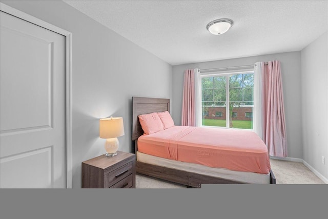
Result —
[[200, 164], [193, 164], [187, 162], [174, 161], [158, 156], [153, 156], [139, 151], [136, 152], [137, 161], [147, 164], [152, 164], [156, 166], [162, 166], [177, 170], [183, 170], [203, 175], [209, 175], [214, 177], [221, 177], [227, 180], [238, 181], [248, 184], [270, 184], [270, 173], [252, 173], [252, 172], [242, 172], [233, 171], [223, 168], [207, 167]]

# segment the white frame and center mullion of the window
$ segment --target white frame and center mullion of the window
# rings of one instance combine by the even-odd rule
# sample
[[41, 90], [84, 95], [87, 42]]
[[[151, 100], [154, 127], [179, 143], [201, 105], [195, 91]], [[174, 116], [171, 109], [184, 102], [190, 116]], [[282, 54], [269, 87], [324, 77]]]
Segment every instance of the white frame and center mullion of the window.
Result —
[[[200, 96], [202, 92], [202, 85], [201, 85], [201, 80], [203, 77], [218, 77], [218, 76], [225, 76], [226, 77], [226, 103], [230, 102], [230, 96], [229, 96], [229, 76], [232, 74], [253, 74], [255, 77], [255, 72], [254, 68], [242, 68], [242, 69], [236, 69], [236, 70], [226, 70], [226, 71], [215, 71], [215, 72], [201, 72], [200, 73]], [[253, 85], [253, 113], [252, 113], [252, 121], [254, 120], [254, 107], [255, 107], [255, 102], [254, 102], [254, 90], [255, 90], [255, 79], [254, 79], [254, 85]], [[256, 89], [257, 90], [257, 89]], [[200, 99], [200, 104], [201, 108], [202, 106], [202, 99]], [[202, 123], [200, 124], [201, 127], [212, 127], [212, 128], [225, 128], [225, 129], [240, 129], [240, 128], [230, 128], [230, 116], [229, 116], [229, 107], [227, 107], [226, 104], [226, 126], [204, 126]], [[200, 115], [202, 115], [202, 110], [200, 112]], [[249, 130], [249, 131], [254, 131], [254, 123], [252, 129], [241, 129], [241, 130]]]

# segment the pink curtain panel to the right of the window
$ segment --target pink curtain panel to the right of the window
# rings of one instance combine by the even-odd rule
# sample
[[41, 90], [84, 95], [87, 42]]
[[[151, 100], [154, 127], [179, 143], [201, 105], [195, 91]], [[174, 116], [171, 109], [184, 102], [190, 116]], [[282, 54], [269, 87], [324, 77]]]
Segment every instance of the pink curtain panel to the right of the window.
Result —
[[263, 65], [262, 77], [262, 138], [270, 156], [287, 156], [286, 125], [279, 61]]

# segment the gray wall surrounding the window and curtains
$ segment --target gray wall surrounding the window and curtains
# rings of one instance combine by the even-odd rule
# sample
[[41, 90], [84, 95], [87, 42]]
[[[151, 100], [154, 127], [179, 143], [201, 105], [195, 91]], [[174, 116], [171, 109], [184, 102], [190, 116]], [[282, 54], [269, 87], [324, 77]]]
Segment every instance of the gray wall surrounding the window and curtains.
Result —
[[302, 158], [300, 52], [260, 55], [173, 66], [172, 102], [174, 107], [172, 117], [175, 124], [181, 124], [183, 73], [186, 69], [212, 69], [220, 67], [243, 66], [252, 65], [256, 62], [267, 62], [273, 60], [279, 60], [281, 62], [288, 156]]

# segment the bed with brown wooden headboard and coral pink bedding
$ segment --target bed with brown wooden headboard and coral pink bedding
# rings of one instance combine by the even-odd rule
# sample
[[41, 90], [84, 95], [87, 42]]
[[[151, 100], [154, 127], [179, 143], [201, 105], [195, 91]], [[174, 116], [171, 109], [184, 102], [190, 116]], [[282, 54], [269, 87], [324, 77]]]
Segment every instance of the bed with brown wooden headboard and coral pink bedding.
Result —
[[[276, 183], [267, 147], [252, 131], [170, 125], [146, 133], [140, 116], [167, 115], [169, 111], [170, 99], [132, 97], [132, 151], [137, 173], [187, 188]], [[220, 136], [220, 145], [211, 135]]]

